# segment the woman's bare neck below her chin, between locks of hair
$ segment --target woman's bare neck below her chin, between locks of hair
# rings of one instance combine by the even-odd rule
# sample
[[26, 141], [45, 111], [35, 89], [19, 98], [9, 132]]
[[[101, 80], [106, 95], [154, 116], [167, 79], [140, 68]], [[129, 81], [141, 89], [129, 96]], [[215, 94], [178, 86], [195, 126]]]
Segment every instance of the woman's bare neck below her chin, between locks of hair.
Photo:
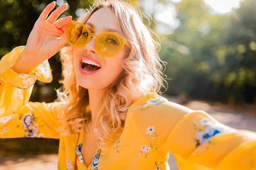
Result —
[[88, 94], [89, 94], [89, 107], [91, 109], [91, 114], [92, 117], [89, 121], [89, 128], [90, 127], [94, 127], [95, 124], [95, 120], [97, 118], [97, 115], [99, 113], [99, 110], [101, 108], [102, 105], [102, 98], [103, 98], [103, 94], [104, 94], [104, 89], [102, 90], [91, 90], [88, 89]]

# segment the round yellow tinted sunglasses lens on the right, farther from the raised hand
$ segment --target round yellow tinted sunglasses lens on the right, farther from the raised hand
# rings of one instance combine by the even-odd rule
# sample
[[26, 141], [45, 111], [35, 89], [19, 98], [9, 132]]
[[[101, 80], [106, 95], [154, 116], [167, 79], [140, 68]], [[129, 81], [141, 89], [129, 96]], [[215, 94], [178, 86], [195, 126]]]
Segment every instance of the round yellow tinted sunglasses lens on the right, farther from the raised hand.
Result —
[[110, 57], [119, 52], [120, 40], [115, 35], [104, 34], [99, 37], [96, 48], [101, 55]]

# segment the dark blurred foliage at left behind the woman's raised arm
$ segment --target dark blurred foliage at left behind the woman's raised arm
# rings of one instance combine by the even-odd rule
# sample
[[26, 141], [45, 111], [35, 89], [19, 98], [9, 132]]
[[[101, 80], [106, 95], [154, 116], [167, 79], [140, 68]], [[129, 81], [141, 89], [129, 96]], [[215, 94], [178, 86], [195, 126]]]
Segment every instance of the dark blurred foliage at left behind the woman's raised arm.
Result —
[[[16, 46], [26, 45], [27, 38], [36, 20], [50, 2], [52, 0], [0, 0], [0, 58]], [[66, 1], [57, 0], [56, 8], [64, 2]], [[68, 9], [60, 18], [72, 15], [74, 20], [78, 17], [77, 14], [84, 11], [81, 9], [89, 8], [90, 2], [76, 0], [69, 1], [68, 4]], [[37, 81], [30, 101], [52, 102], [56, 98], [54, 88], [56, 89], [60, 86], [58, 79], [61, 78], [61, 63], [59, 59], [59, 53], [49, 59], [54, 79], [50, 84]]]

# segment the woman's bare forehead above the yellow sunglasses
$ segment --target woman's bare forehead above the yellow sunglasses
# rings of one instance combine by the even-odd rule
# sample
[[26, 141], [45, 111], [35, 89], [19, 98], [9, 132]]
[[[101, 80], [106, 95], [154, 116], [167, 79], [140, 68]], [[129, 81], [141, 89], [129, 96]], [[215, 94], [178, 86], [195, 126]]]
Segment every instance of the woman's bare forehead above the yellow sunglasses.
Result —
[[117, 29], [117, 19], [110, 7], [103, 7], [95, 11], [87, 20], [95, 26], [96, 29], [110, 28]]

